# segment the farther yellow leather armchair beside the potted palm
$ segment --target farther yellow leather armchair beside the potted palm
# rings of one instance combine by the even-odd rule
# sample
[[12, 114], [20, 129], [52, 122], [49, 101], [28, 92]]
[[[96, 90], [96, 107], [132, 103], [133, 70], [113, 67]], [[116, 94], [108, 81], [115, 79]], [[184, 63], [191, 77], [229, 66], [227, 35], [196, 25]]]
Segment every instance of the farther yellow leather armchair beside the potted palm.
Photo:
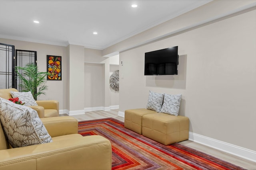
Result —
[[[6, 100], [12, 98], [10, 91], [18, 92], [15, 88], [0, 89], [0, 97]], [[59, 116], [59, 102], [56, 100], [36, 100], [38, 106], [29, 106], [36, 110], [39, 117]]]

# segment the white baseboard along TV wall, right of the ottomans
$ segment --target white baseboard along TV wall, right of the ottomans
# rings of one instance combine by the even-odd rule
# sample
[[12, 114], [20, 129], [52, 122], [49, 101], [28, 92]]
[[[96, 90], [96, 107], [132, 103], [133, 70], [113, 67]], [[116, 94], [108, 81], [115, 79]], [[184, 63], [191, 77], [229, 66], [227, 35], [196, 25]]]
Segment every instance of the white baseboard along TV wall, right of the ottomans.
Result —
[[189, 140], [256, 162], [256, 151], [189, 132]]

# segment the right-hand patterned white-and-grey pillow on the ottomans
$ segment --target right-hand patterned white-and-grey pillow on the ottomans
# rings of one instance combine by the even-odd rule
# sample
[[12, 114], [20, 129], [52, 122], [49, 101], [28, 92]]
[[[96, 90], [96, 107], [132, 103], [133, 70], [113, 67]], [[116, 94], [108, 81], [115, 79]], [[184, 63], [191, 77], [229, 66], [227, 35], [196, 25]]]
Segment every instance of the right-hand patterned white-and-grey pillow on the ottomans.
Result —
[[182, 97], [181, 94], [179, 95], [164, 94], [164, 103], [160, 112], [178, 116], [181, 97]]

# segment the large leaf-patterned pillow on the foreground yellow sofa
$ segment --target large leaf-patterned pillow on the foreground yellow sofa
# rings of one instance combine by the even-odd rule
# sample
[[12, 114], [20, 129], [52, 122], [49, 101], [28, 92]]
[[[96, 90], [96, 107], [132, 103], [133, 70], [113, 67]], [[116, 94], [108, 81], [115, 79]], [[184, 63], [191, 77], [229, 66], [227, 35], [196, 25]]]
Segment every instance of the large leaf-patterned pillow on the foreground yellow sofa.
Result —
[[37, 112], [0, 98], [0, 121], [13, 148], [52, 142]]

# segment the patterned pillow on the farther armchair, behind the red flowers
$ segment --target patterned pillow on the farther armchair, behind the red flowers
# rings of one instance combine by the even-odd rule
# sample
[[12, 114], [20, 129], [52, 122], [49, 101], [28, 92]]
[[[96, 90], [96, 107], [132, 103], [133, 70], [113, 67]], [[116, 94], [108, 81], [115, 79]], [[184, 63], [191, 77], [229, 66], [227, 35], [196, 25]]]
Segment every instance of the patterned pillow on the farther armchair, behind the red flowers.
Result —
[[34, 100], [31, 92], [14, 92], [10, 91], [12, 98], [19, 98], [22, 103], [25, 103], [25, 106], [38, 106], [36, 100]]

